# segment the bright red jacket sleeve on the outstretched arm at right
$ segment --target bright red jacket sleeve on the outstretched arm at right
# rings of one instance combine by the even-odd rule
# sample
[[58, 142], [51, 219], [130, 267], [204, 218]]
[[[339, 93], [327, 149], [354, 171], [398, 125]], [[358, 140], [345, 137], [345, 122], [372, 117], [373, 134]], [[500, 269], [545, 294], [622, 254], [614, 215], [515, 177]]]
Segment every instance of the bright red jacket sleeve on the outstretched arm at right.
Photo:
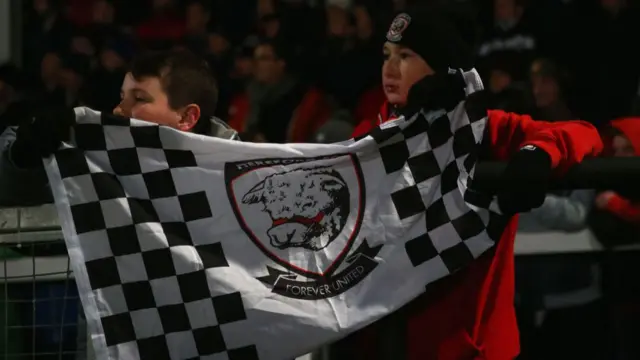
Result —
[[528, 115], [488, 111], [487, 133], [495, 160], [507, 160], [522, 146], [534, 145], [551, 156], [554, 169], [564, 171], [585, 157], [597, 156], [603, 145], [598, 130], [585, 121], [547, 122]]

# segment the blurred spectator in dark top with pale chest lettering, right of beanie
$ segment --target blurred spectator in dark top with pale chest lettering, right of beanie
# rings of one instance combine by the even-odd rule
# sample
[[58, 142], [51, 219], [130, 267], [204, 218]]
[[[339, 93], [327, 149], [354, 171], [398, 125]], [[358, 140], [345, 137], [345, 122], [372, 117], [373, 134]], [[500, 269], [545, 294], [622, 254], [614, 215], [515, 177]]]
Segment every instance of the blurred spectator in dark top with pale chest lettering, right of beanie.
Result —
[[525, 0], [494, 0], [493, 23], [480, 42], [479, 64], [482, 65], [491, 54], [510, 54], [515, 69], [514, 80], [524, 80], [536, 46], [536, 37], [525, 18]]

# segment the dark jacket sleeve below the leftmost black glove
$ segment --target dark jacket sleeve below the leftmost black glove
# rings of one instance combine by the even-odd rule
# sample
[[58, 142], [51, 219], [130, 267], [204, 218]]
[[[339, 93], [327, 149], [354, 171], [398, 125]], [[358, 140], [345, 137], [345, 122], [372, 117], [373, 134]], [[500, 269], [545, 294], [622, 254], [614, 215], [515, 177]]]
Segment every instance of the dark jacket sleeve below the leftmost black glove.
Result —
[[11, 161], [14, 140], [14, 128], [7, 128], [0, 135], [0, 206], [35, 206], [53, 202], [43, 166], [20, 169]]

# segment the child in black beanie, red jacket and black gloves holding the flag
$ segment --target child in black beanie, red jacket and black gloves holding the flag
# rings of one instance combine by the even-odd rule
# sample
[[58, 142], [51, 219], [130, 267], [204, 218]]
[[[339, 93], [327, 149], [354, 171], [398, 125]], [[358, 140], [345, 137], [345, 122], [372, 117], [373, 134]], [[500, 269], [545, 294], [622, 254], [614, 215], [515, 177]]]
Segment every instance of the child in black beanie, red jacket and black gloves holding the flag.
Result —
[[[354, 137], [418, 108], [449, 111], [465, 99], [461, 71], [455, 70], [472, 74], [475, 70], [472, 47], [465, 39], [469, 22], [461, 19], [464, 18], [449, 9], [433, 6], [414, 8], [395, 17], [383, 48], [382, 82], [387, 101], [376, 119], [357, 126]], [[510, 216], [500, 240], [493, 250], [465, 269], [429, 285], [426, 294], [405, 309], [337, 343], [331, 358], [517, 357], [519, 339], [513, 305], [515, 214], [539, 207], [549, 179], [583, 158], [599, 154], [602, 141], [597, 130], [586, 122], [550, 123], [487, 110], [482, 107], [482, 92], [466, 100], [467, 104], [477, 104], [478, 111], [486, 111], [488, 118], [480, 159], [509, 161], [497, 194], [502, 213]]]

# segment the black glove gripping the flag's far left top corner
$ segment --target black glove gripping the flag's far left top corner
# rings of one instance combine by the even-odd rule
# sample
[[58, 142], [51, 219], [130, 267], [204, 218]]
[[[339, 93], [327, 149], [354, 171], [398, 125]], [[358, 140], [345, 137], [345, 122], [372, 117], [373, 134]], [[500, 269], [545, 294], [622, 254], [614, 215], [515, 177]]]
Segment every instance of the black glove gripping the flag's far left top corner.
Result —
[[42, 158], [53, 154], [63, 141], [70, 139], [75, 122], [75, 112], [69, 108], [25, 119], [18, 126], [16, 140], [11, 145], [11, 160], [22, 168], [37, 166]]

